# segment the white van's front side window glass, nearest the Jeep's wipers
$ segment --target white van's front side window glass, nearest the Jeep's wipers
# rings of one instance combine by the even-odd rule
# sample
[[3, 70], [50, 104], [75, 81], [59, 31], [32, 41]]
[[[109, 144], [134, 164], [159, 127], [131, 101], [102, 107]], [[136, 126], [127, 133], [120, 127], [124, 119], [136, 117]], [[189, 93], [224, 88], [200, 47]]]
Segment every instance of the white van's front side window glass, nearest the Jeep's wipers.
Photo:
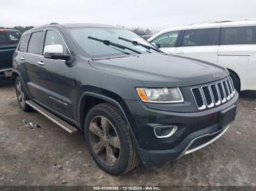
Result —
[[179, 31], [172, 31], [165, 34], [161, 34], [157, 36], [156, 39], [152, 41], [152, 43], [156, 44], [157, 47], [175, 47], [177, 39], [178, 39]]

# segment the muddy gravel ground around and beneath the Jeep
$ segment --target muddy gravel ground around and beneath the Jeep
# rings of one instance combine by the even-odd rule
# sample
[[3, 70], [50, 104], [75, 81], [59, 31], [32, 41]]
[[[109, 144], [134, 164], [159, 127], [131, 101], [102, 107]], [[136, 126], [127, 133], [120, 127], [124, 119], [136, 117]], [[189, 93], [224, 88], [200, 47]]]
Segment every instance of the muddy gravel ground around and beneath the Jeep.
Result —
[[[256, 186], [256, 92], [241, 93], [236, 121], [213, 144], [174, 162], [110, 176], [93, 162], [83, 133], [66, 133], [18, 108], [12, 80], [0, 87], [0, 185]], [[41, 128], [26, 128], [22, 120]]]

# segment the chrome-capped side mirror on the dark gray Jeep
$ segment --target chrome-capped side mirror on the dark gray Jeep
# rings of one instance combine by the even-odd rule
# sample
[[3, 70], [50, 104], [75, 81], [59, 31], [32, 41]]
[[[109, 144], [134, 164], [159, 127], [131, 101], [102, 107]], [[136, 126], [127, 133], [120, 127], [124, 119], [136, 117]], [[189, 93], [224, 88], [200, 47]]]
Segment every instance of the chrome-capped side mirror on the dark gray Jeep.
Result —
[[64, 55], [63, 46], [61, 44], [52, 44], [45, 46], [44, 57], [64, 61], [71, 60], [70, 55]]

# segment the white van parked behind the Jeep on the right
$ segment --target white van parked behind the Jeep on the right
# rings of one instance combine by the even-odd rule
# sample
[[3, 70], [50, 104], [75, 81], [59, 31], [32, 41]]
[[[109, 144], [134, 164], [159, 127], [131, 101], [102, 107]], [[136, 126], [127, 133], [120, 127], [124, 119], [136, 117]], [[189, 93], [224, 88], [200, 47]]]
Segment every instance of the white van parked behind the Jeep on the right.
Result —
[[237, 90], [256, 90], [256, 20], [167, 28], [148, 39], [160, 50], [227, 68]]

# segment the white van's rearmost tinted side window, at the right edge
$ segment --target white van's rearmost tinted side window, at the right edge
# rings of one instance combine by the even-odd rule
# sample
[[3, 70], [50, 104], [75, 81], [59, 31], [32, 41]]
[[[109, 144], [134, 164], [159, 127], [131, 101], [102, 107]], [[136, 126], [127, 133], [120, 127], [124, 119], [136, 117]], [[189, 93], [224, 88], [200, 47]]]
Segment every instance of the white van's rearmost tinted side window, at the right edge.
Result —
[[220, 44], [256, 44], [256, 26], [224, 27]]

